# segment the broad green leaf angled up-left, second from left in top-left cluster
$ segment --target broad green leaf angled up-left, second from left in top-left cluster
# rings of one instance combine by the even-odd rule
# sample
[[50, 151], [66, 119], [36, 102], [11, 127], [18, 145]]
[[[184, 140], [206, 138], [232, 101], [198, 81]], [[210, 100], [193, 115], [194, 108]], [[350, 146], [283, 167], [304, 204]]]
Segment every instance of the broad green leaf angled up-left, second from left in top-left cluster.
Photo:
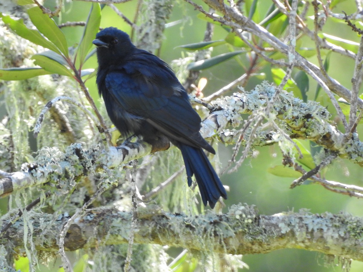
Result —
[[30, 20], [36, 28], [42, 33], [49, 41], [68, 57], [68, 45], [63, 32], [58, 28], [58, 25], [52, 18], [42, 12], [39, 7], [28, 9]]

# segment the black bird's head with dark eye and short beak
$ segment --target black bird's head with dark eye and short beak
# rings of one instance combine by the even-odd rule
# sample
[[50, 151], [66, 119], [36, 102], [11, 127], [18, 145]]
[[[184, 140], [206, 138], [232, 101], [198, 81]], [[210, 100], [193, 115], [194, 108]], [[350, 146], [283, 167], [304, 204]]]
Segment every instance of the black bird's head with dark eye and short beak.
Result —
[[100, 67], [122, 62], [135, 48], [127, 33], [113, 27], [98, 32], [93, 44], [97, 46]]

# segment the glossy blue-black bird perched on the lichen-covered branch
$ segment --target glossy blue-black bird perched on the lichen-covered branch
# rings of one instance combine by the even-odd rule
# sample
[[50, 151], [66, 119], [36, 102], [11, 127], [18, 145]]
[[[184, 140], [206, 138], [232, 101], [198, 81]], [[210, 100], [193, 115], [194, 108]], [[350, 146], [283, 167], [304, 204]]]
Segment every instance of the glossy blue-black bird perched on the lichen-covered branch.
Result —
[[154, 143], [167, 137], [183, 155], [188, 185], [195, 175], [204, 205], [212, 208], [227, 193], [203, 149], [215, 150], [200, 135], [201, 119], [172, 69], [138, 49], [127, 33], [113, 27], [96, 35], [97, 85], [107, 113], [124, 136]]

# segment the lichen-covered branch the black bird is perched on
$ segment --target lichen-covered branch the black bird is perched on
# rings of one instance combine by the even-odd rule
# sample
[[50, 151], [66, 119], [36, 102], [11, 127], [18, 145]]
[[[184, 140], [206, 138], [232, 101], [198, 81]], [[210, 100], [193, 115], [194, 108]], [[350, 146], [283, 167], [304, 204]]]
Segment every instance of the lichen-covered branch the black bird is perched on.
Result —
[[[215, 100], [212, 102], [214, 110], [202, 123], [202, 135], [212, 137], [216, 132], [221, 132], [220, 135], [224, 136], [223, 129], [229, 124], [240, 125], [243, 121], [241, 114], [251, 114], [265, 107], [275, 92], [276, 87], [265, 82], [252, 91]], [[329, 112], [319, 103], [313, 101], [304, 103], [293, 94], [282, 91], [273, 105], [272, 114], [291, 138], [309, 139], [336, 152], [341, 158], [348, 158], [363, 165], [363, 144], [358, 136], [353, 133], [351, 139], [346, 139], [344, 133], [330, 124]], [[245, 138], [248, 138], [248, 133], [246, 132]], [[258, 131], [254, 145], [278, 143], [281, 140], [280, 136], [279, 132]], [[77, 143], [70, 145], [65, 152], [59, 150], [41, 152], [37, 157], [38, 161], [24, 164], [23, 171], [12, 173], [11, 176], [0, 180], [0, 195], [21, 187], [43, 184], [49, 180], [73, 180], [87, 173], [93, 173], [103, 166], [115, 168], [151, 152], [164, 150], [165, 144], [168, 143], [151, 146], [143, 141], [127, 142], [105, 151], [100, 145], [87, 147], [85, 144]]]

